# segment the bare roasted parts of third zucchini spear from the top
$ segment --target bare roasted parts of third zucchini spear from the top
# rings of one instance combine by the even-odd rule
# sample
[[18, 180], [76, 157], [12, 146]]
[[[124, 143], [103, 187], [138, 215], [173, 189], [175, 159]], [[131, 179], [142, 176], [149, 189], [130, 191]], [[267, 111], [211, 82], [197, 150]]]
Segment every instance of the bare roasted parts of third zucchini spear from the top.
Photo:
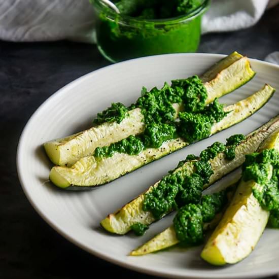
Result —
[[[205, 185], [204, 188], [207, 188], [227, 173], [239, 167], [245, 161], [245, 155], [255, 152], [261, 142], [263, 142], [266, 137], [276, 129], [279, 129], [279, 115], [262, 125], [256, 131], [247, 135], [246, 140], [235, 148], [235, 159], [228, 161], [225, 159], [224, 154], [221, 153], [211, 160], [211, 166], [214, 173], [210, 178], [210, 183]], [[187, 173], [190, 174], [193, 170], [193, 164], [192, 162], [186, 162], [181, 168], [176, 169], [176, 171], [179, 171], [182, 168], [187, 170]], [[101, 226], [109, 232], [125, 234], [130, 230], [130, 226], [136, 222], [144, 223], [146, 225], [153, 223], [155, 219], [151, 212], [144, 211], [142, 207], [144, 195], [151, 192], [158, 183], [159, 182], [155, 183], [153, 186], [149, 187], [146, 192], [122, 206], [120, 210], [116, 211], [114, 214], [109, 214], [101, 221]]]

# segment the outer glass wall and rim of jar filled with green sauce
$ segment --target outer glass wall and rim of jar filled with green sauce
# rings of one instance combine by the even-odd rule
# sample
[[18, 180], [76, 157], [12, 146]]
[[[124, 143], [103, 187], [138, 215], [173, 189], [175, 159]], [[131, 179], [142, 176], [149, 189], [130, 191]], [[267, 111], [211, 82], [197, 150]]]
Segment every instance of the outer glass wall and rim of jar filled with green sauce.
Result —
[[190, 13], [168, 19], [145, 20], [117, 14], [100, 0], [91, 0], [96, 11], [96, 41], [111, 62], [165, 53], [195, 52], [201, 17], [210, 0]]

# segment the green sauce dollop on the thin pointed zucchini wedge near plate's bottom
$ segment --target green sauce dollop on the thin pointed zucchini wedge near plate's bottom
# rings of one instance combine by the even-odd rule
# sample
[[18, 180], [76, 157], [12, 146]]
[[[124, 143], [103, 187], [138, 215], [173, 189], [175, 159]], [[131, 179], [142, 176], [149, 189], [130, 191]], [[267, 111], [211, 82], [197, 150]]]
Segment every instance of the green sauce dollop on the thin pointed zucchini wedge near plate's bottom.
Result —
[[182, 245], [197, 245], [203, 241], [203, 224], [211, 222], [226, 204], [226, 190], [204, 195], [198, 204], [181, 207], [173, 219], [177, 238]]

